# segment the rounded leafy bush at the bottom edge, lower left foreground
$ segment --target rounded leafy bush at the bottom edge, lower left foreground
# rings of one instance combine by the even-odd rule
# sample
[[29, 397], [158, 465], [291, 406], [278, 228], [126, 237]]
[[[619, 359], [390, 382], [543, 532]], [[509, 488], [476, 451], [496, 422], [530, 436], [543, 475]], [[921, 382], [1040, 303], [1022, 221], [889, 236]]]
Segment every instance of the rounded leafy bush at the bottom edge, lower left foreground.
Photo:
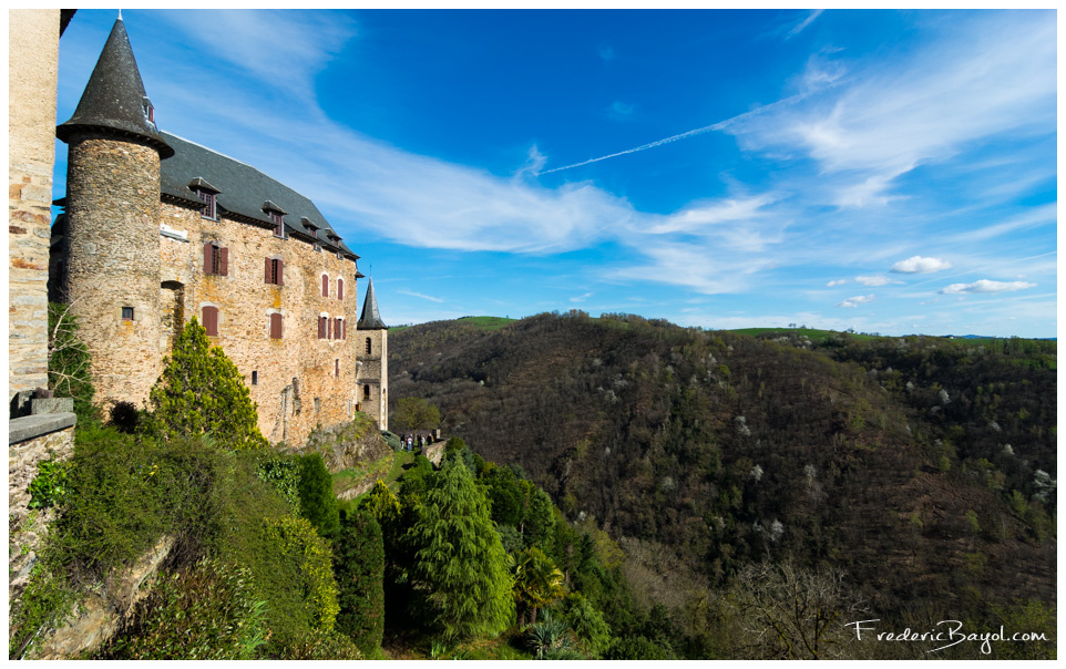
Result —
[[254, 659], [266, 636], [264, 607], [247, 569], [203, 559], [162, 575], [95, 659]]

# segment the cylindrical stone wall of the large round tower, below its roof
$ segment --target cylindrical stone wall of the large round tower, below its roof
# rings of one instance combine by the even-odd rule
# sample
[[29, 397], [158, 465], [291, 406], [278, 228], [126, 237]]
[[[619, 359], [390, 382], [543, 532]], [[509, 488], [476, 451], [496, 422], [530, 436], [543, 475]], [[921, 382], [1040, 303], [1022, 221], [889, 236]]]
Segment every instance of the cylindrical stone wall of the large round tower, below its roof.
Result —
[[[158, 378], [160, 155], [103, 137], [71, 141], [65, 295], [92, 351], [95, 401], [147, 397]], [[133, 319], [123, 320], [123, 307]]]

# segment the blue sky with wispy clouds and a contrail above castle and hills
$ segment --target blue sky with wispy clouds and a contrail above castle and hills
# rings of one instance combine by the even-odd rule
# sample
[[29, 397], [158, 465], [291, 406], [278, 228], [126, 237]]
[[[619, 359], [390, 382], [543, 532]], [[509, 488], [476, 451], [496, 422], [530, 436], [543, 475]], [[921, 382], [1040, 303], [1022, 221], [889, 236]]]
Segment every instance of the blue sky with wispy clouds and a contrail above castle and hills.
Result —
[[390, 325], [1056, 336], [1054, 11], [123, 18], [160, 127], [312, 198]]

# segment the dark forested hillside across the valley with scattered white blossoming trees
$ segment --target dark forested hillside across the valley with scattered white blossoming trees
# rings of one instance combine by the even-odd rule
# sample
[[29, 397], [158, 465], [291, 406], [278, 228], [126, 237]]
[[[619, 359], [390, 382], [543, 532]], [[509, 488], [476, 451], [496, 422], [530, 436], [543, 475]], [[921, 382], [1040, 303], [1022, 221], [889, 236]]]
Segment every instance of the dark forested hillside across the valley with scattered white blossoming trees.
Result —
[[1055, 605], [1053, 341], [814, 343], [571, 312], [426, 323], [390, 349], [393, 400], [429, 399], [593, 519], [689, 631], [714, 627], [701, 597], [762, 564], [842, 572], [864, 610], [912, 627]]

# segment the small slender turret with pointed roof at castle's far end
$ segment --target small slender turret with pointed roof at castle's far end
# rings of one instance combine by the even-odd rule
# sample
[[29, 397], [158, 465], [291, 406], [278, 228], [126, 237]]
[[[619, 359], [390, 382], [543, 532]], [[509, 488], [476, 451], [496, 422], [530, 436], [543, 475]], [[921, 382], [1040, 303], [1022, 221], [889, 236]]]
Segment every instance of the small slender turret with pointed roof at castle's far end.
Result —
[[378, 300], [373, 296], [373, 278], [367, 279], [367, 299], [356, 326], [359, 372], [356, 398], [359, 409], [378, 422], [379, 430], [389, 429], [389, 328], [381, 322]]

